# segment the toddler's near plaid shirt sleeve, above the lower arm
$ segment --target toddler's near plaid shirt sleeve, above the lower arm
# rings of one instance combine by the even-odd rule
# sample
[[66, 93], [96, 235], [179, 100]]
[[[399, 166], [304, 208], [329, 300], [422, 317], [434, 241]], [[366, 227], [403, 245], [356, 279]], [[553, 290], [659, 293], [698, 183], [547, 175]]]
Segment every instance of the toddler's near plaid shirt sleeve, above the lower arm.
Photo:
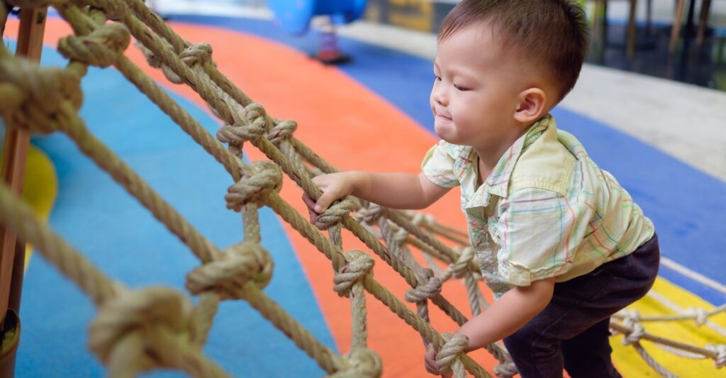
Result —
[[544, 189], [518, 189], [501, 202], [497, 236], [499, 274], [516, 286], [566, 273], [594, 211]]

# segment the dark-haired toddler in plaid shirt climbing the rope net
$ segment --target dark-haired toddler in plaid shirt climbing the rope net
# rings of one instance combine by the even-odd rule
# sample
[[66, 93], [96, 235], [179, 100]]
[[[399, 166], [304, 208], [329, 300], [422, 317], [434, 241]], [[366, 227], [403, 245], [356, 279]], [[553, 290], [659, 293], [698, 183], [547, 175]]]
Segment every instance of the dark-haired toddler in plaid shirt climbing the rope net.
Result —
[[[463, 0], [446, 16], [431, 110], [441, 138], [422, 171], [313, 179], [311, 221], [352, 194], [420, 209], [460, 186], [471, 247], [494, 304], [457, 333], [504, 340], [521, 377], [619, 377], [610, 316], [658, 273], [653, 223], [549, 114], [573, 88], [587, 24], [571, 0]], [[426, 369], [441, 374], [429, 345]]]

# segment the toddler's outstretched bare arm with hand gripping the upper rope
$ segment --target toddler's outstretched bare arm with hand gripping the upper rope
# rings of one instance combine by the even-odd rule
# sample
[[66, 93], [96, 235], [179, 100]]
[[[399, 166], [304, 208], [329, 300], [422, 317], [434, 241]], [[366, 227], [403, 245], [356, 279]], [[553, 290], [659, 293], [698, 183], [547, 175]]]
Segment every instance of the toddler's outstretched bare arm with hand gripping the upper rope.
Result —
[[362, 200], [387, 208], [423, 209], [449, 192], [433, 184], [423, 173], [373, 173], [362, 170], [316, 176], [313, 182], [322, 190], [317, 202], [303, 196], [315, 213], [322, 213], [333, 201], [353, 194]]

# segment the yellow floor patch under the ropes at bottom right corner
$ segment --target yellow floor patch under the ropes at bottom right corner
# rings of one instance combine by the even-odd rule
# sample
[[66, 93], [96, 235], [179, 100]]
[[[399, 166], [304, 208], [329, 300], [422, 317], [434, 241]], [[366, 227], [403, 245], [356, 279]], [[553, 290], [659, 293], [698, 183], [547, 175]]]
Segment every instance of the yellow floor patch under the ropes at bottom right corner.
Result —
[[[652, 291], [664, 296], [674, 305], [683, 311], [686, 309], [703, 308], [711, 311], [714, 305], [702, 300], [701, 297], [677, 287], [666, 279], [658, 277]], [[661, 304], [653, 297], [646, 296], [637, 303], [629, 306], [629, 309], [637, 310], [641, 316], [664, 316], [677, 314], [672, 309]], [[726, 314], [719, 313], [711, 316], [709, 321], [726, 329]], [[726, 344], [726, 337], [714, 331], [709, 326], [697, 326], [696, 321], [647, 321], [642, 322], [645, 332], [666, 337], [670, 340], [685, 342], [686, 344], [705, 348], [708, 344]], [[618, 370], [627, 378], [659, 377], [643, 358], [635, 351], [635, 348], [622, 344], [623, 335], [618, 334], [611, 337], [613, 346], [613, 361]], [[648, 340], [641, 340], [640, 345], [652, 356], [661, 366], [676, 374], [678, 377], [726, 377], [726, 368], [716, 369], [711, 358], [696, 360], [676, 356], [673, 353], [661, 349], [658, 345]]]

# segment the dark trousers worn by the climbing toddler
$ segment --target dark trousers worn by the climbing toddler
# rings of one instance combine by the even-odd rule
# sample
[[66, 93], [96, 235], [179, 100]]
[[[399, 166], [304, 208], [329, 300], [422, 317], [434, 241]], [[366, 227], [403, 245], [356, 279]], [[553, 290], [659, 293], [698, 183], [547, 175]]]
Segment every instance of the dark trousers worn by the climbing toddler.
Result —
[[658, 237], [595, 271], [555, 284], [550, 304], [504, 343], [522, 378], [620, 377], [610, 359], [610, 316], [648, 292]]

